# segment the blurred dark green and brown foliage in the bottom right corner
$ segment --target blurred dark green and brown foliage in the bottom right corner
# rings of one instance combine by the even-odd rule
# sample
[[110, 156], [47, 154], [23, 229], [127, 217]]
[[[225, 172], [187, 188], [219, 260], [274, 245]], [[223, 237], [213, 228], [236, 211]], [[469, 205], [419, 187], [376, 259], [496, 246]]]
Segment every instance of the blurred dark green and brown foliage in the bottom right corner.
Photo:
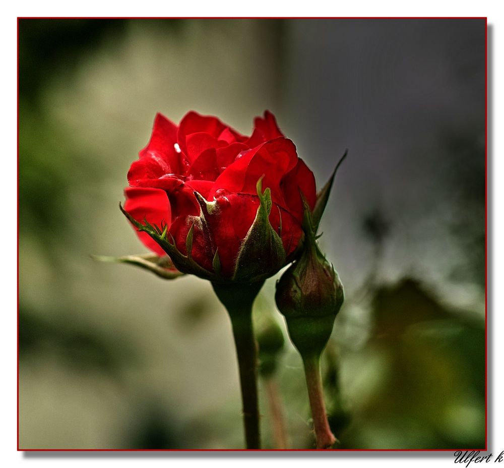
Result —
[[461, 318], [414, 278], [375, 288], [372, 318], [363, 359], [376, 363], [358, 378], [373, 387], [353, 401], [341, 448], [483, 447], [484, 322]]

